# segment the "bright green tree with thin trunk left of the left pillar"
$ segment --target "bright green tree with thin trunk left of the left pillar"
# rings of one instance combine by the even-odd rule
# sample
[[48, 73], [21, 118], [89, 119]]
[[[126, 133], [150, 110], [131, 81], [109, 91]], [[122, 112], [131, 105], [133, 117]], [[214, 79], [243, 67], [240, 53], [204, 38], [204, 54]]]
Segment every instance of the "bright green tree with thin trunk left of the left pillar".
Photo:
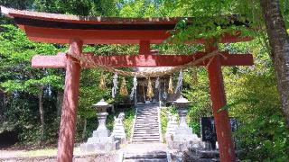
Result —
[[[46, 69], [33, 69], [30, 60], [36, 53], [54, 53], [56, 48], [51, 44], [34, 43], [28, 40], [23, 31], [12, 25], [2, 25], [0, 34], [1, 86], [5, 93], [25, 92], [33, 94], [39, 100], [41, 135], [44, 137], [44, 109], [42, 95], [47, 85], [62, 88], [61, 76], [53, 75]], [[47, 89], [50, 91], [50, 89]]]

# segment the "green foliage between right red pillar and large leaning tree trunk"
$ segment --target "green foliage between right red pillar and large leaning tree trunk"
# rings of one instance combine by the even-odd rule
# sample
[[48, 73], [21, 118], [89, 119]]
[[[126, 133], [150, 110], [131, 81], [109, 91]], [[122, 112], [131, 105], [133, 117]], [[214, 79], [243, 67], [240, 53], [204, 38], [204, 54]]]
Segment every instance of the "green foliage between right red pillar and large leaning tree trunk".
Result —
[[250, 50], [255, 58], [254, 67], [226, 67], [223, 69], [228, 98], [228, 111], [241, 122], [236, 132], [242, 159], [253, 161], [285, 161], [288, 159], [288, 130], [278, 97], [272, 63], [266, 47], [258, 40], [230, 44], [234, 51]]

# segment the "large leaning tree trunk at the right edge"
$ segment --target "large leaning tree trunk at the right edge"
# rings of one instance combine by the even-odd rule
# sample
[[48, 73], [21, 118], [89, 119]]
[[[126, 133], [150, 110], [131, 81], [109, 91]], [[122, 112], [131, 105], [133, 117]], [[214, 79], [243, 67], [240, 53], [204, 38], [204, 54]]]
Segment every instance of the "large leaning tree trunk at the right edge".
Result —
[[277, 77], [282, 109], [289, 128], [289, 37], [278, 0], [260, 0]]

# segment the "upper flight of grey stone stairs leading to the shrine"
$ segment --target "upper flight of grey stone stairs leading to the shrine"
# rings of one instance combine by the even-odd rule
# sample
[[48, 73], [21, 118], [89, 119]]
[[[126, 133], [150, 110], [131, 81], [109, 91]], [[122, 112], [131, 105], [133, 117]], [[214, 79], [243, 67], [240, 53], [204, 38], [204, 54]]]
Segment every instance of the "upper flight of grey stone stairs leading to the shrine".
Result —
[[132, 143], [161, 142], [158, 104], [137, 104]]

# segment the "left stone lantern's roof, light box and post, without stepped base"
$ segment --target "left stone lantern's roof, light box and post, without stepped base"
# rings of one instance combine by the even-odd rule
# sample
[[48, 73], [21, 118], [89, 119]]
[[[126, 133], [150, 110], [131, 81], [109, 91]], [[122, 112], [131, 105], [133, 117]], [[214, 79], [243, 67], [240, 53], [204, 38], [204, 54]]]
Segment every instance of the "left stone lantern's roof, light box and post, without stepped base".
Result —
[[93, 104], [98, 112], [98, 129], [93, 131], [94, 137], [109, 137], [110, 131], [107, 130], [107, 108], [110, 106], [104, 99], [98, 103]]

